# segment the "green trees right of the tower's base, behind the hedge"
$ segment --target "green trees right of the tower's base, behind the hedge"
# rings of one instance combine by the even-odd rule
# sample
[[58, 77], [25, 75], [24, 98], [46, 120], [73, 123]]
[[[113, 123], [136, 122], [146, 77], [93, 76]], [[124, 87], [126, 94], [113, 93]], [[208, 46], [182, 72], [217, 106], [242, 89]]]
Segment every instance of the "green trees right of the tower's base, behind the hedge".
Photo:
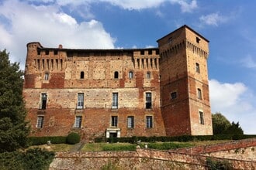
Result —
[[243, 129], [240, 127], [239, 122], [237, 124], [227, 120], [223, 114], [216, 113], [212, 114], [213, 120], [213, 134], [244, 134]]

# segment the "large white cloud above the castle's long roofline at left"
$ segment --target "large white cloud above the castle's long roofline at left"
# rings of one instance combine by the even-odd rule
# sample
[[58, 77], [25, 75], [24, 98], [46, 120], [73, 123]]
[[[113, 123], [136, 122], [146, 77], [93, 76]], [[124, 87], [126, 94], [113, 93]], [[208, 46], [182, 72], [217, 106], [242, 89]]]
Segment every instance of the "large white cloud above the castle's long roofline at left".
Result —
[[0, 5], [0, 15], [9, 23], [0, 22], [0, 49], [8, 49], [10, 59], [24, 68], [26, 43], [41, 42], [42, 46], [64, 48], [114, 48], [113, 39], [94, 19], [78, 23], [55, 5], [29, 5], [17, 0]]

